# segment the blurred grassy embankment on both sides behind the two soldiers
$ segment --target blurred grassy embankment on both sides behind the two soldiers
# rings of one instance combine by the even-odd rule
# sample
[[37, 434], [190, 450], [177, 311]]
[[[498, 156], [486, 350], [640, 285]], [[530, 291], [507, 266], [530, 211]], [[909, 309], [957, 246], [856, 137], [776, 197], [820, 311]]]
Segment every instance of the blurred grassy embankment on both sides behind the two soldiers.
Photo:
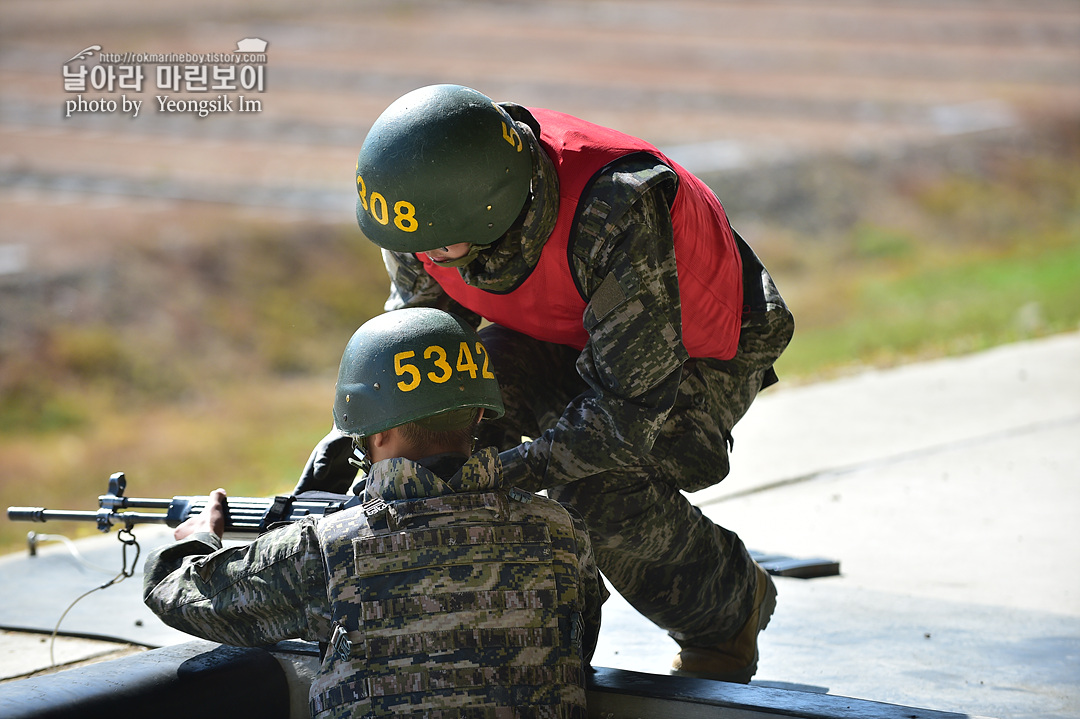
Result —
[[[1080, 143], [1065, 146], [1005, 148], [981, 176], [867, 177], [875, 193], [824, 238], [755, 232], [796, 317], [784, 384], [1080, 328]], [[0, 505], [93, 510], [117, 471], [143, 497], [292, 488], [388, 283], [354, 228], [229, 232], [125, 253], [86, 322], [21, 317], [27, 341], [0, 347]], [[31, 527], [0, 521], [0, 551]]]

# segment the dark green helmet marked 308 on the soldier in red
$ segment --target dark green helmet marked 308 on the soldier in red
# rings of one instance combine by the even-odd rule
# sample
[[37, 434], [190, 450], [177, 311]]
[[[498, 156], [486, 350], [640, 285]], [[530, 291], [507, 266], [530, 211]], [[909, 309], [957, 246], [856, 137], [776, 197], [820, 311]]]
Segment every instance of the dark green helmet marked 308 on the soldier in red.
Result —
[[517, 219], [531, 178], [528, 146], [490, 97], [461, 85], [420, 87], [367, 133], [356, 159], [356, 222], [394, 252], [487, 245]]

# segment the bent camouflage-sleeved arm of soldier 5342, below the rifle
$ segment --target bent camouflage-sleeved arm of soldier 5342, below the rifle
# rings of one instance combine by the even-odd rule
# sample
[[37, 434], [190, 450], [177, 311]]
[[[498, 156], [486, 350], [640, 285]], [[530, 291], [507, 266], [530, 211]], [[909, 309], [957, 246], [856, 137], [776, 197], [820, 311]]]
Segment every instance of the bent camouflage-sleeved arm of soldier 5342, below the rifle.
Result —
[[329, 636], [329, 600], [314, 520], [221, 547], [199, 532], [152, 552], [143, 598], [161, 620], [211, 641], [258, 647]]

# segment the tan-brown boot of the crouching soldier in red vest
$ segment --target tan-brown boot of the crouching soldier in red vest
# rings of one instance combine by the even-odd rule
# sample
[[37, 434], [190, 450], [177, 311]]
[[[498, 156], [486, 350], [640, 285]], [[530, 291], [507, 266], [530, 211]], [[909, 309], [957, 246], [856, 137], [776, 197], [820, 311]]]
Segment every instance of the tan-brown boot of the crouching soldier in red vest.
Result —
[[757, 633], [769, 625], [777, 608], [777, 586], [769, 573], [757, 564], [757, 591], [754, 611], [746, 624], [727, 643], [719, 647], [684, 647], [672, 663], [672, 674], [717, 681], [750, 683], [757, 671]]

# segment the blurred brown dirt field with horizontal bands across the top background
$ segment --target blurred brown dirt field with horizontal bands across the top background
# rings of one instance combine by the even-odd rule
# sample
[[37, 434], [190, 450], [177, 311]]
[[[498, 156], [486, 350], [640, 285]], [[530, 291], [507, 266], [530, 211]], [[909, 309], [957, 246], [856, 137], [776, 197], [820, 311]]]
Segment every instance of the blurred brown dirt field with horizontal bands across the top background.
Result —
[[[65, 89], [65, 67], [100, 64], [97, 54], [66, 63], [93, 45], [229, 53], [244, 38], [268, 42], [264, 89], [246, 95], [257, 112], [162, 111], [159, 96], [221, 94], [158, 89], [167, 63], [141, 63], [139, 91]], [[0, 5], [0, 281], [78, 271], [129, 242], [194, 241], [206, 223], [351, 222], [367, 127], [396, 96], [435, 82], [608, 124], [710, 172], [1074, 116], [1080, 5], [10, 0]], [[124, 97], [141, 101], [138, 117], [122, 111]], [[118, 109], [66, 117], [79, 98]]]

